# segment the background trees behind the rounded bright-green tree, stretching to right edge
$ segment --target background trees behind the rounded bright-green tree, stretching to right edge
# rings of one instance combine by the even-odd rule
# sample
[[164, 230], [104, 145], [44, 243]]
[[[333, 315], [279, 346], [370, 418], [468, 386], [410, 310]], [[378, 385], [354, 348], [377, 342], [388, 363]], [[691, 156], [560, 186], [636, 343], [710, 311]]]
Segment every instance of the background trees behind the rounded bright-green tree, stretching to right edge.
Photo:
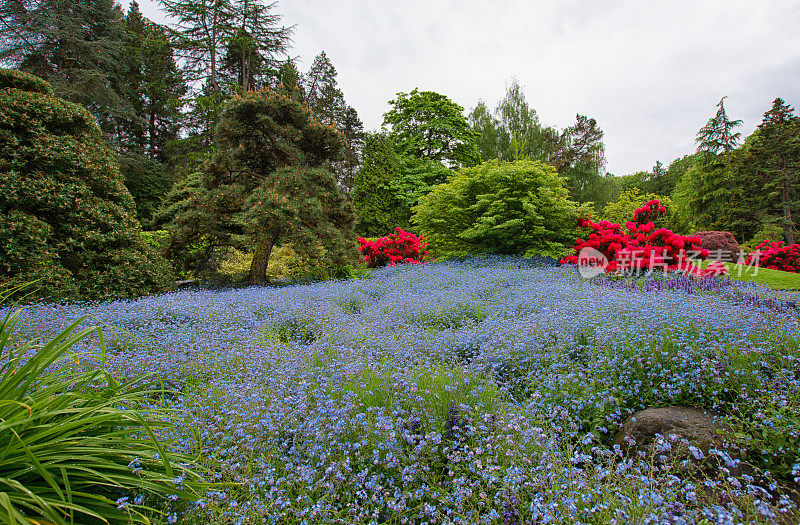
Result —
[[[453, 176], [447, 168], [497, 159], [552, 166], [570, 197], [589, 204], [596, 218], [624, 221], [657, 198], [669, 210], [665, 225], [679, 233], [730, 231], [752, 245], [764, 239], [792, 244], [797, 238], [800, 117], [783, 99], [775, 99], [756, 131], [743, 139], [736, 131], [741, 121], [728, 117], [723, 98], [698, 131], [696, 151], [667, 165], [656, 161], [648, 171], [614, 176], [605, 171], [603, 131], [595, 119], [578, 114], [563, 130], [545, 125], [516, 81], [493, 110], [479, 102], [466, 117], [460, 107], [448, 112], [444, 102], [437, 106], [436, 97], [447, 100], [430, 92], [401, 94], [385, 115], [384, 131], [367, 138], [354, 193], [360, 233], [378, 235], [390, 223], [413, 229], [411, 207], [431, 185]], [[449, 140], [469, 154], [441, 162], [435, 147], [420, 147], [430, 128], [441, 134], [462, 130], [450, 132]], [[420, 170], [420, 162], [428, 167]]]

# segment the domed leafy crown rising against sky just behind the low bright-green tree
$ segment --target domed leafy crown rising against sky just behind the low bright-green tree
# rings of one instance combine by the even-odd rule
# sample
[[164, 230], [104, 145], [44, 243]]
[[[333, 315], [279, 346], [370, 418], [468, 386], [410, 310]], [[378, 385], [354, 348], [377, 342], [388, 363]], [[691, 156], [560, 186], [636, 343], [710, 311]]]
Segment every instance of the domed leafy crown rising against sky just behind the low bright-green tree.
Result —
[[383, 124], [391, 130], [403, 155], [427, 158], [455, 168], [479, 161], [478, 134], [463, 115], [464, 108], [433, 91], [398, 93], [389, 101]]

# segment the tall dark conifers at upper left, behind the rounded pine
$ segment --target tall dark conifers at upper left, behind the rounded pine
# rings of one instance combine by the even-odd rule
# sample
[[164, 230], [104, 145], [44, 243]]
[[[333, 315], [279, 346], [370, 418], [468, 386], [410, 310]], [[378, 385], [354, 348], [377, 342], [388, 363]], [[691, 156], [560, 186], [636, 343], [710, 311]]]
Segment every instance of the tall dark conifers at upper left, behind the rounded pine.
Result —
[[146, 19], [135, 1], [33, 4], [0, 1], [0, 62], [49, 82], [57, 96], [87, 108], [118, 153], [125, 184], [145, 227], [173, 183], [216, 148], [226, 101], [262, 88], [297, 87], [297, 97], [337, 126], [346, 147], [334, 170], [349, 191], [363, 124], [321, 52], [308, 71], [287, 58], [292, 28], [274, 3], [167, 0], [175, 26]]

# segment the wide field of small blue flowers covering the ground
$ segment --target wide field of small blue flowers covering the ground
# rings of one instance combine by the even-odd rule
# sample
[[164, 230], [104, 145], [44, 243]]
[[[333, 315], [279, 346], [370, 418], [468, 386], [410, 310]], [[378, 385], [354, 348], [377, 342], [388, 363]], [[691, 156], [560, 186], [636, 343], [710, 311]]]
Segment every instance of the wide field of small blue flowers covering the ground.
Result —
[[[33, 305], [17, 335], [90, 314], [113, 374], [175, 391], [165, 437], [213, 485], [169, 522], [797, 523], [798, 299], [490, 257]], [[725, 416], [726, 442], [614, 446], [672, 405]]]

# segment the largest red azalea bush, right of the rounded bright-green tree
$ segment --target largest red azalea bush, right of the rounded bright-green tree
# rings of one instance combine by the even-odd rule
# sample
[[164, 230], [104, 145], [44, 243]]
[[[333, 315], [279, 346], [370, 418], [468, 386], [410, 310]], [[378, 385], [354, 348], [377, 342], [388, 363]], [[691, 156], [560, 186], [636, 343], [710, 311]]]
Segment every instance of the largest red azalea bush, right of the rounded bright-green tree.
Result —
[[586, 239], [575, 241], [575, 253], [561, 260], [562, 264], [578, 264], [583, 249], [593, 248], [608, 260], [606, 273], [638, 273], [662, 269], [681, 271], [696, 277], [726, 273], [725, 266], [713, 263], [705, 270], [692, 264], [692, 259], [706, 259], [709, 251], [700, 248], [700, 237], [677, 235], [665, 228], [656, 228], [653, 220], [666, 213], [656, 199], [634, 212], [633, 221], [625, 229], [617, 223], [594, 223], [581, 219], [580, 226], [589, 232]]

